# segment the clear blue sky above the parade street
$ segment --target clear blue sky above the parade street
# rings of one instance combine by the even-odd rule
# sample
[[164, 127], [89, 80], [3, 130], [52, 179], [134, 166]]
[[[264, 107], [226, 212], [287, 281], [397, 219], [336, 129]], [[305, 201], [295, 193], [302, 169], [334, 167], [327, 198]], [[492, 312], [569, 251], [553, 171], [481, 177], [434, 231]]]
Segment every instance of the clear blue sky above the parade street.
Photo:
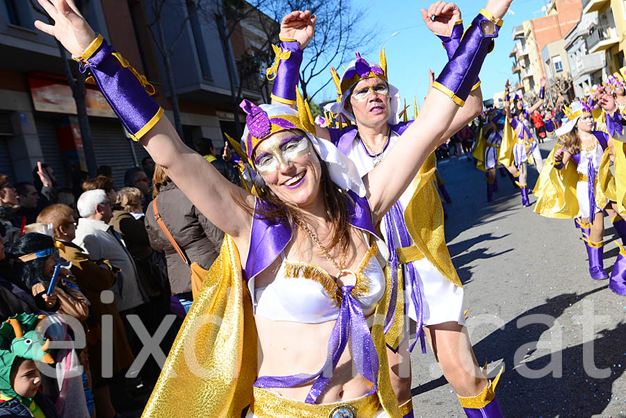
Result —
[[[547, 3], [546, 0], [514, 0], [511, 9], [514, 15], [508, 13], [504, 18], [499, 36], [495, 40], [495, 49], [487, 56], [481, 70], [481, 87], [483, 98], [490, 99], [495, 92], [504, 90], [506, 78], [513, 81], [511, 67], [513, 59], [508, 54], [513, 51], [515, 43], [511, 38], [513, 27], [522, 24], [524, 20], [533, 19], [545, 15], [541, 8]], [[420, 8], [426, 8], [431, 1], [411, 0], [387, 0], [371, 3], [371, 12], [364, 19], [364, 27], [373, 26], [380, 28], [377, 45], [364, 57], [367, 60], [378, 62], [378, 47], [396, 31], [398, 35], [391, 37], [385, 42], [387, 55], [387, 67], [390, 83], [399, 88], [402, 98], [408, 103], [413, 102], [413, 96], [417, 96], [418, 105], [428, 92], [428, 69], [433, 69], [435, 74], [440, 72], [447, 62], [447, 56], [438, 38], [428, 31], [422, 20]], [[467, 27], [472, 19], [486, 4], [485, 0], [458, 0], [456, 4], [463, 14], [463, 23]], [[386, 7], [383, 5], [392, 5]], [[330, 72], [324, 73], [330, 77]], [[324, 75], [312, 81], [312, 87], [326, 83], [328, 78]], [[341, 75], [341, 73], [340, 73]], [[315, 89], [316, 90], [316, 89]], [[311, 91], [315, 91], [311, 90]], [[335, 87], [328, 85], [322, 92], [314, 97], [314, 101], [335, 99]], [[412, 112], [409, 112], [412, 116]]]

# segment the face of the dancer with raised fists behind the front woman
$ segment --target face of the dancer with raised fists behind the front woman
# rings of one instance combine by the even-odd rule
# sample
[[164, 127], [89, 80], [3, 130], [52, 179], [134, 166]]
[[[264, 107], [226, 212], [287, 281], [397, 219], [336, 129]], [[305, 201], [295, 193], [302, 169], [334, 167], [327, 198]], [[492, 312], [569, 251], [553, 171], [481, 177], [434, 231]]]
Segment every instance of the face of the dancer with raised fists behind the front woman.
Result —
[[391, 112], [389, 85], [378, 77], [361, 80], [352, 89], [348, 104], [357, 124], [387, 124]]

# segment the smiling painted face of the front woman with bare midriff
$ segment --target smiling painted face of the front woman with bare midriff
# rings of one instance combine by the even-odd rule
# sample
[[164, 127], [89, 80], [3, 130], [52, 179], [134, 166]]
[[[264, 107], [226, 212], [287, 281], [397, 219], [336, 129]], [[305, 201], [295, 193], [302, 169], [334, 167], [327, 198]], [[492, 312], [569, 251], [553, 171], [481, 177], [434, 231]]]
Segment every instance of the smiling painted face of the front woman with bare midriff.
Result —
[[321, 165], [302, 131], [274, 133], [257, 145], [253, 161], [266, 185], [280, 200], [304, 207], [317, 199]]

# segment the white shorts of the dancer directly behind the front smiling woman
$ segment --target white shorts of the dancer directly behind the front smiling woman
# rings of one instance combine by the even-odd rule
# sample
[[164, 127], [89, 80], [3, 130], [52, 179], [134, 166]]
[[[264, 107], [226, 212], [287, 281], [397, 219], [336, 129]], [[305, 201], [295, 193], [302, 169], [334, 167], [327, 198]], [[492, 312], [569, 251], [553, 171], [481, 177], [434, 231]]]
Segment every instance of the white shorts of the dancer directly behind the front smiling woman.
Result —
[[[419, 290], [422, 291], [424, 326], [458, 322], [465, 325], [463, 313], [463, 287], [458, 287], [435, 267], [427, 258], [413, 261], [417, 270]], [[410, 296], [410, 285], [404, 283], [405, 299], [408, 301], [408, 316], [417, 321], [415, 305]]]

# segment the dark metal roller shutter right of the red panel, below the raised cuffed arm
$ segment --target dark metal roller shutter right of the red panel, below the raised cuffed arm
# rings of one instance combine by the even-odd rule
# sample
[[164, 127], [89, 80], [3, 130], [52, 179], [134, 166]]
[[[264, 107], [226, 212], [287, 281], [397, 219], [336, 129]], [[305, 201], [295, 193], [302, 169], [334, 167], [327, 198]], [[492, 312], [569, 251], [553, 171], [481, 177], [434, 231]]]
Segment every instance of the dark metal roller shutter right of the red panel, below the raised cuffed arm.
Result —
[[98, 167], [109, 165], [113, 168], [113, 180], [118, 190], [124, 187], [124, 173], [134, 167], [129, 140], [118, 121], [90, 121], [91, 139]]

